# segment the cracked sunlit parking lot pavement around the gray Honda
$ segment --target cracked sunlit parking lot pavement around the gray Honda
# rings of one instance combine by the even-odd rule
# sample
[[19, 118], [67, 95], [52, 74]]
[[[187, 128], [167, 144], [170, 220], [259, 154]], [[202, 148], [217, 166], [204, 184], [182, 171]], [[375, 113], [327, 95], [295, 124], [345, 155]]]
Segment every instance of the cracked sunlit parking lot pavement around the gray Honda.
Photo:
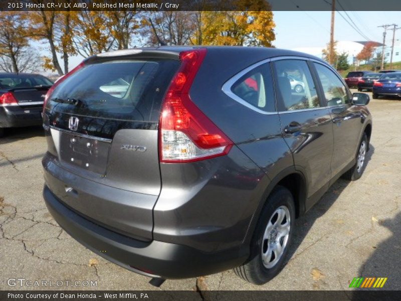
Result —
[[[401, 100], [371, 100], [368, 108], [373, 130], [362, 178], [338, 180], [296, 221], [287, 265], [262, 286], [230, 270], [157, 288], [95, 255], [47, 211], [42, 128], [9, 130], [0, 138], [0, 289], [342, 290], [358, 276], [388, 277], [383, 289], [401, 289]], [[10, 278], [63, 284], [10, 286]], [[91, 280], [96, 286], [86, 285]]]

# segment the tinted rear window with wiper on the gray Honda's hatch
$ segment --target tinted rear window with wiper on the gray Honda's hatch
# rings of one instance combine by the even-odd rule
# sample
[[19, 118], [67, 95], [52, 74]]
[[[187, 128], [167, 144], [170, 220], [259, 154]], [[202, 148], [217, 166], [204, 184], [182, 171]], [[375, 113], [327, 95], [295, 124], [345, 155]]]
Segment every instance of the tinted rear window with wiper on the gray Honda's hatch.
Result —
[[[88, 117], [158, 121], [178, 60], [118, 60], [85, 66], [63, 81], [49, 109]], [[65, 103], [67, 99], [77, 104]]]

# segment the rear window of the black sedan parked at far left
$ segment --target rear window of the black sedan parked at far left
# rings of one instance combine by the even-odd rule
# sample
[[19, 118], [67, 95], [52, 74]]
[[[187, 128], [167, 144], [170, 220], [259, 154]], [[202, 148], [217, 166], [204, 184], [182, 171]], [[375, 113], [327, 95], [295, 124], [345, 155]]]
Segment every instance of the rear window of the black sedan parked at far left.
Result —
[[0, 75], [0, 89], [32, 88], [52, 86], [53, 82], [41, 75], [5, 74]]

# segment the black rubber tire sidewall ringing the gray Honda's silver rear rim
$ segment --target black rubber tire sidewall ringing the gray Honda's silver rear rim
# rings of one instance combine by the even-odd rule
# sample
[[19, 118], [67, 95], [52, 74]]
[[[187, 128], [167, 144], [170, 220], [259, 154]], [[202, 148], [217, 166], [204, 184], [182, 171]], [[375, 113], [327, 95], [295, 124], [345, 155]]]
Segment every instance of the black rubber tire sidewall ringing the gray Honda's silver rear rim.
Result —
[[[290, 212], [290, 233], [288, 241], [284, 249], [284, 253], [272, 268], [266, 268], [262, 261], [262, 243], [263, 234], [265, 232], [267, 223], [271, 216], [280, 206], [286, 206]], [[258, 224], [255, 229], [254, 237], [251, 243], [251, 261], [253, 270], [256, 272], [258, 284], [263, 284], [272, 279], [284, 266], [288, 249], [291, 245], [292, 235], [294, 232], [295, 224], [295, 206], [291, 193], [286, 188], [276, 189], [268, 198], [264, 208], [262, 209]]]

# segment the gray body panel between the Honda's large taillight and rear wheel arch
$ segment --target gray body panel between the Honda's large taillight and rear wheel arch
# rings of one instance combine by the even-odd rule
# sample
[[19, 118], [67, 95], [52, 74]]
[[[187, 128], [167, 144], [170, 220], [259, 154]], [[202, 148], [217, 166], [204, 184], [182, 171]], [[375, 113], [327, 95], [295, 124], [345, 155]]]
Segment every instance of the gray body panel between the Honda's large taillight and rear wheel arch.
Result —
[[160, 164], [155, 240], [204, 251], [239, 247], [269, 180], [234, 146], [227, 156]]

